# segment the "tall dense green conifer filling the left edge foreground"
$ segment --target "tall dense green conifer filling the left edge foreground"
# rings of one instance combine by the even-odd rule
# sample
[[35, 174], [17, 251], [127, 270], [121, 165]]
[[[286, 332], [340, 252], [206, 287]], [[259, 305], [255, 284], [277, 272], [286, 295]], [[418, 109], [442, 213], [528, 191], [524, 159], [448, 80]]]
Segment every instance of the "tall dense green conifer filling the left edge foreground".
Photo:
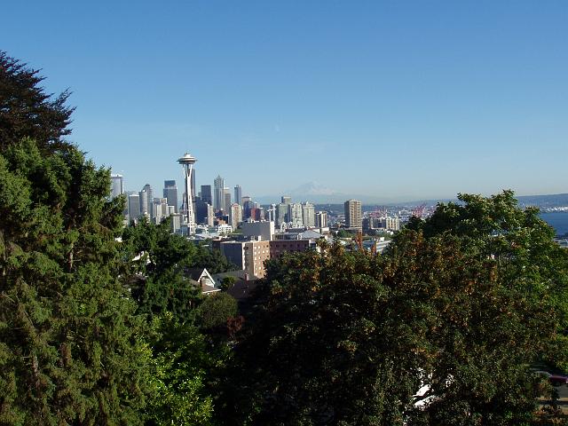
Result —
[[0, 154], [0, 423], [137, 424], [147, 359], [117, 280], [122, 205], [108, 170], [51, 148]]

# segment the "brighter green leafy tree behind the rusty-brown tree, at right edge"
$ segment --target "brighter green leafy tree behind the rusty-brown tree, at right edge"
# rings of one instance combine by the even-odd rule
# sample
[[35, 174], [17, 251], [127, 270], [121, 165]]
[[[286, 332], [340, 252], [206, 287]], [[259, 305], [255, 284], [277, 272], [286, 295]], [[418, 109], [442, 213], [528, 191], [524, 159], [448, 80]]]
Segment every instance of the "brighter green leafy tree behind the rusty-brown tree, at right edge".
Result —
[[558, 333], [556, 351], [542, 357], [568, 369], [568, 250], [553, 241], [555, 232], [540, 219], [538, 209], [518, 207], [512, 191], [489, 198], [471, 194], [458, 198], [460, 203], [439, 204], [431, 217], [415, 218], [407, 229], [420, 230], [426, 238], [455, 235], [469, 248], [491, 256], [509, 287], [532, 297], [546, 293], [558, 319]]

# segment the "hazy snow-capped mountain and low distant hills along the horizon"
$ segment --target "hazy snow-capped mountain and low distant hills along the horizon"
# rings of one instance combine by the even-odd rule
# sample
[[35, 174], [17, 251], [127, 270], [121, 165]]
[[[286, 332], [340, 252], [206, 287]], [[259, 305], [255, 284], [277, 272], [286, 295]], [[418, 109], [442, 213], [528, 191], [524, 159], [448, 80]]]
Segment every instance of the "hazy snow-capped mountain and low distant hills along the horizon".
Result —
[[[355, 193], [339, 193], [327, 186], [319, 184], [319, 182], [308, 182], [296, 188], [289, 189], [285, 193], [264, 195], [256, 197], [255, 201], [262, 204], [279, 203], [282, 195], [292, 197], [292, 201], [304, 202], [310, 201], [317, 204], [343, 204], [347, 200], [359, 200], [366, 205], [392, 205], [413, 206], [419, 204], [434, 205], [438, 202], [457, 201], [457, 198], [448, 199], [430, 199], [430, 200], [414, 200], [408, 201], [400, 197], [379, 197], [373, 195], [355, 194]], [[522, 195], [517, 196], [519, 204], [522, 206], [539, 206], [544, 208], [553, 208], [560, 206], [568, 206], [568, 193], [556, 193], [549, 195]]]

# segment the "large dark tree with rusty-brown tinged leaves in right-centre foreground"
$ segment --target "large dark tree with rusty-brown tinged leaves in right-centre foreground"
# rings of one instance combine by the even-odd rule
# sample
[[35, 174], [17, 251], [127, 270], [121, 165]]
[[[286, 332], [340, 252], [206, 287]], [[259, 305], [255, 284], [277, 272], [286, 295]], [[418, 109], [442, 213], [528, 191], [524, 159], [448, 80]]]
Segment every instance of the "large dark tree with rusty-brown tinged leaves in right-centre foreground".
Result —
[[456, 221], [462, 233], [399, 233], [384, 256], [337, 244], [269, 262], [235, 347], [225, 420], [531, 423], [539, 383], [527, 368], [558, 347], [563, 319], [543, 278], [554, 271], [521, 268], [514, 233], [556, 251], [532, 213], [522, 212], [526, 229], [510, 224], [521, 212], [508, 200], [498, 204], [509, 233]]

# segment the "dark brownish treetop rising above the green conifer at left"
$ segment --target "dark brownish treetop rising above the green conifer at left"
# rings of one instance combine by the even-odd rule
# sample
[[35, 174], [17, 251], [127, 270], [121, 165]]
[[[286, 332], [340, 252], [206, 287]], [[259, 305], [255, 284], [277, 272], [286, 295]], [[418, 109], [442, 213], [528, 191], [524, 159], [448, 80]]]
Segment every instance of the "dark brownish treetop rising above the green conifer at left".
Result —
[[65, 105], [69, 92], [52, 99], [39, 87], [43, 77], [18, 59], [0, 51], [0, 151], [32, 138], [41, 153], [71, 146], [63, 139], [74, 108]]

